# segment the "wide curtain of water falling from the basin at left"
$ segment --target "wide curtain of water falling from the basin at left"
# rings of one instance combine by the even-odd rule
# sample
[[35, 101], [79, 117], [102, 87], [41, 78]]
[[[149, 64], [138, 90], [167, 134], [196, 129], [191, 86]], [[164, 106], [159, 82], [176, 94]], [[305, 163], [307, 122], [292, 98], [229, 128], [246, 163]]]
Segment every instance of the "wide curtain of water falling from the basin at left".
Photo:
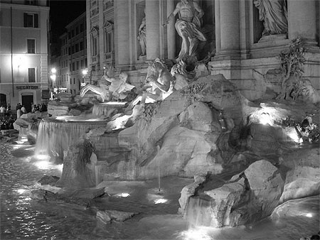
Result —
[[106, 121], [96, 119], [43, 119], [38, 128], [35, 156], [50, 156], [63, 159], [63, 151], [75, 143], [88, 129], [106, 126]]

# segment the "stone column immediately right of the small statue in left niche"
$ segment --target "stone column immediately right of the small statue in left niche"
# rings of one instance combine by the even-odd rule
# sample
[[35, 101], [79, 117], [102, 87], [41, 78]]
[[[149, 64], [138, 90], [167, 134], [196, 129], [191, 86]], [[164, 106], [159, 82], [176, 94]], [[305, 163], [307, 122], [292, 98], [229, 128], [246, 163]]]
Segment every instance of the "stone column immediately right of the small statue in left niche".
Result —
[[160, 58], [159, 0], [146, 0], [146, 59]]

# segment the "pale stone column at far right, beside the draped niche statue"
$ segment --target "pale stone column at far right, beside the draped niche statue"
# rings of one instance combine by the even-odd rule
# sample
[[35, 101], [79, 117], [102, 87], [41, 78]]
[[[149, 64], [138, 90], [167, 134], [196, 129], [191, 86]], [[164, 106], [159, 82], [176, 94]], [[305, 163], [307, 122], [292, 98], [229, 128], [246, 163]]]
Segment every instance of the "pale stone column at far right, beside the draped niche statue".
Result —
[[316, 40], [315, 0], [288, 0], [288, 35]]

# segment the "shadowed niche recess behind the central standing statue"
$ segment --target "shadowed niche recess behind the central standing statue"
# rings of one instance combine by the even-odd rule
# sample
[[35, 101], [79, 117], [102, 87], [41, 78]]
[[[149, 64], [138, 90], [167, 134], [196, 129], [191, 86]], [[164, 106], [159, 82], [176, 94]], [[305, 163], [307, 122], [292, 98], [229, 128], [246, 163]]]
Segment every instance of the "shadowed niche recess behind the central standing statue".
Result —
[[[176, 8], [176, 4], [181, 0], [174, 0], [174, 8]], [[214, 0], [193, 0], [196, 1], [201, 9], [203, 9], [204, 15], [202, 18], [202, 26], [201, 32], [206, 36], [207, 41], [199, 43], [198, 50], [198, 60], [202, 60], [210, 55], [215, 54], [215, 1]], [[168, 13], [169, 15], [170, 13]], [[178, 14], [176, 15], [176, 19], [178, 18]], [[181, 50], [182, 40], [178, 33], [176, 33], [176, 57], [178, 56]]]

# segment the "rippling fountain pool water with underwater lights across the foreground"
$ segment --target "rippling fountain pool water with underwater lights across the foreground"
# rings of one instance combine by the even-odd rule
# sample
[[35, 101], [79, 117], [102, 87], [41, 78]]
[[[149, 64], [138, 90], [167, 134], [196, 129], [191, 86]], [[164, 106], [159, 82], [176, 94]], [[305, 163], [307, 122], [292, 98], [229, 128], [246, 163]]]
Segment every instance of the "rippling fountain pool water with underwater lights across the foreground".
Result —
[[[107, 182], [107, 192], [90, 207], [31, 200], [43, 175], [61, 175], [61, 165], [32, 160], [33, 147], [0, 145], [0, 239], [300, 239], [319, 231], [319, 196], [282, 204], [271, 217], [236, 228], [188, 228], [176, 215], [178, 197], [192, 180], [162, 178], [146, 182]], [[102, 182], [103, 183], [103, 182]], [[102, 184], [100, 183], [100, 185]], [[47, 186], [48, 187], [48, 186]], [[59, 191], [48, 187], [48, 190]], [[103, 225], [98, 209], [137, 213], [122, 223]]]

